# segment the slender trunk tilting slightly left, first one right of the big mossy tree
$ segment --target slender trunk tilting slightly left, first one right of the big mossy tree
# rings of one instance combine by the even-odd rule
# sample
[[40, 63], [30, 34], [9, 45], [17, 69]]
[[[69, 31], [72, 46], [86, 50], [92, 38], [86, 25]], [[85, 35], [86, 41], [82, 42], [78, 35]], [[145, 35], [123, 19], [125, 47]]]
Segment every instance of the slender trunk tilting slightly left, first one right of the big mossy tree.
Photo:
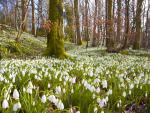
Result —
[[77, 45], [82, 45], [81, 34], [80, 34], [80, 21], [79, 21], [79, 4], [78, 0], [74, 0], [74, 13], [76, 20], [76, 33], [77, 33]]

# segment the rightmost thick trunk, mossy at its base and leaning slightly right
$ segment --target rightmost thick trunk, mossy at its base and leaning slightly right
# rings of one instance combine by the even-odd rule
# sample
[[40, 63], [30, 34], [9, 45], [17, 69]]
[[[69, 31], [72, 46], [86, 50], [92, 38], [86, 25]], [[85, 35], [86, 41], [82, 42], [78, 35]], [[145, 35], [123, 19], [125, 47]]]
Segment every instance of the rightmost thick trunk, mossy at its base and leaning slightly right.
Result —
[[136, 8], [136, 36], [133, 44], [133, 49], [140, 49], [141, 43], [141, 14], [142, 14], [142, 4], [144, 0], [137, 0]]

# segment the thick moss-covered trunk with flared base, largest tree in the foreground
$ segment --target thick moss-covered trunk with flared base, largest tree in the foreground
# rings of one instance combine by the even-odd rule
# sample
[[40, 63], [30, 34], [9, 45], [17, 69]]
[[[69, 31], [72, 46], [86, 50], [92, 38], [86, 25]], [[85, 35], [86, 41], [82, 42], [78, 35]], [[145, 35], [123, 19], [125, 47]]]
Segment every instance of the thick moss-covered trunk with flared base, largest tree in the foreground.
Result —
[[62, 0], [49, 0], [49, 20], [51, 30], [47, 35], [46, 55], [59, 58], [67, 57], [64, 49]]

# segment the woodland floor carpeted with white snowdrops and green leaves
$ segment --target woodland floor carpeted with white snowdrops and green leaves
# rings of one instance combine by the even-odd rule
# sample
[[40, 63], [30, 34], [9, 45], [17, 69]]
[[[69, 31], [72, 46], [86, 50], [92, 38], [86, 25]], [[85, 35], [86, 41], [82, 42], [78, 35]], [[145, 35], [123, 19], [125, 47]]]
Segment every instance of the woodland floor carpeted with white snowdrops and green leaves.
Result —
[[108, 54], [66, 42], [71, 58], [61, 60], [39, 55], [44, 38], [24, 33], [18, 45], [10, 36], [0, 35], [0, 112], [150, 113], [150, 51]]

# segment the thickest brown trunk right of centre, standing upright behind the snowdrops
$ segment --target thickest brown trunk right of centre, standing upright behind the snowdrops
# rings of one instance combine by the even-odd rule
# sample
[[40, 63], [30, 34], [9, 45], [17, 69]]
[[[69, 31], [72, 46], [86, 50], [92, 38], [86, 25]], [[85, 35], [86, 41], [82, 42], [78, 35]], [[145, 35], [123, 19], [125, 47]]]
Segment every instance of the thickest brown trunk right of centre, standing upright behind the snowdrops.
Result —
[[106, 38], [106, 47], [107, 52], [114, 51], [114, 38], [113, 38], [113, 14], [112, 14], [112, 0], [107, 1], [107, 38]]

